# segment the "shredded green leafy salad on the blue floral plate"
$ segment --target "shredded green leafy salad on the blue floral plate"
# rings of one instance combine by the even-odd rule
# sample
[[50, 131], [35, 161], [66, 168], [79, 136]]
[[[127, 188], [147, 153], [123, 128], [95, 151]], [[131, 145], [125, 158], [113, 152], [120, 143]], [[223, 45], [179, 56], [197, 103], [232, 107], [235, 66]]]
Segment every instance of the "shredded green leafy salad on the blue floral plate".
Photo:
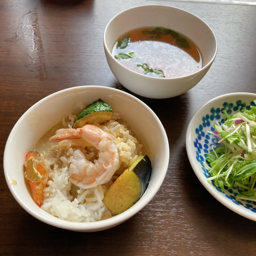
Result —
[[[253, 101], [256, 105], [256, 100]], [[236, 199], [256, 201], [256, 107], [250, 110], [238, 110], [235, 115], [229, 115], [226, 110], [226, 121], [213, 125], [219, 147], [212, 146], [207, 154], [204, 167], [211, 175], [207, 180], [214, 181], [222, 192], [224, 186], [236, 185], [242, 192]]]

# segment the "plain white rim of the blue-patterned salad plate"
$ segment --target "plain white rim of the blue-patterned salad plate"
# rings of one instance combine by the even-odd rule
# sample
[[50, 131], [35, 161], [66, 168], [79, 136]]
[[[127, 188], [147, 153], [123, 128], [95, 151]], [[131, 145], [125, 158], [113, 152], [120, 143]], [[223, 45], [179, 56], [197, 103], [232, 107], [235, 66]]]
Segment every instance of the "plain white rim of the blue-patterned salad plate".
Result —
[[[195, 159], [193, 157], [193, 153], [192, 153], [192, 149], [191, 149], [191, 126], [192, 123], [195, 122], [195, 118], [197, 118], [197, 115], [206, 107], [208, 107], [211, 103], [219, 100], [219, 99], [225, 99], [226, 97], [232, 97], [232, 96], [252, 96], [255, 97], [256, 99], [256, 93], [246, 93], [246, 92], [236, 92], [236, 93], [227, 93], [227, 94], [222, 94], [219, 95], [213, 99], [210, 99], [209, 101], [207, 101], [205, 104], [203, 104], [202, 107], [200, 107], [195, 114], [193, 115], [193, 117], [191, 118], [189, 125], [187, 127], [187, 133], [186, 133], [186, 151], [187, 151], [187, 155], [189, 158], [189, 162], [190, 165], [195, 173], [195, 175], [197, 176], [197, 178], [199, 179], [199, 181], [202, 183], [202, 185], [206, 188], [206, 190], [213, 195], [213, 197], [215, 197], [220, 203], [222, 203], [224, 206], [226, 206], [227, 208], [229, 208], [230, 210], [234, 211], [235, 213], [238, 213], [239, 215], [251, 219], [253, 221], [256, 221], [256, 214], [251, 212], [251, 211], [247, 211], [247, 209], [245, 210], [245, 208], [241, 207], [241, 205], [236, 205], [234, 204], [230, 199], [223, 197], [222, 193], [219, 192], [215, 186], [213, 186], [211, 183], [207, 182], [206, 178], [201, 176], [201, 170], [199, 171], [196, 163], [195, 163]], [[210, 107], [210, 106], [209, 106]]]

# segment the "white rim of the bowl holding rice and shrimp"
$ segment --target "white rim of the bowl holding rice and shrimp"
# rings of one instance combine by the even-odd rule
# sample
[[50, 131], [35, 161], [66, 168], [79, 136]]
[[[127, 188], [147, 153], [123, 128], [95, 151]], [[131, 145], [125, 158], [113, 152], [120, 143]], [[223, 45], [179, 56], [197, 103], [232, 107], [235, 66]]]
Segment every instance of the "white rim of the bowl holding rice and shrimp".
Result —
[[[9, 152], [10, 141], [13, 137], [13, 134], [15, 134], [16, 129], [22, 124], [24, 118], [31, 111], [33, 111], [33, 109], [35, 107], [37, 107], [38, 105], [41, 105], [43, 102], [49, 101], [49, 99], [54, 98], [58, 94], [71, 93], [72, 90], [74, 90], [74, 89], [78, 89], [80, 91], [106, 90], [106, 91], [109, 91], [110, 93], [117, 92], [119, 95], [121, 95], [125, 98], [129, 98], [131, 101], [133, 101], [135, 103], [139, 103], [144, 109], [146, 109], [152, 115], [153, 119], [155, 120], [155, 123], [159, 126], [159, 130], [161, 131], [163, 141], [164, 141], [163, 147], [164, 147], [164, 153], [165, 153], [165, 155], [164, 155], [164, 161], [165, 161], [164, 166], [165, 167], [162, 169], [161, 172], [159, 172], [159, 176], [158, 176], [156, 186], [152, 187], [152, 189], [150, 191], [148, 191], [148, 193], [144, 194], [145, 197], [144, 198], [142, 197], [140, 199], [140, 201], [139, 201], [140, 203], [133, 205], [131, 208], [129, 208], [128, 210], [124, 211], [123, 213], [121, 213], [119, 215], [113, 216], [109, 219], [96, 221], [96, 222], [71, 222], [71, 221], [66, 221], [66, 220], [59, 219], [58, 217], [53, 216], [53, 217], [56, 218], [56, 221], [55, 221], [55, 218], [54, 218], [54, 220], [52, 220], [50, 218], [48, 219], [44, 216], [41, 216], [37, 212], [31, 210], [30, 207], [28, 207], [26, 205], [26, 202], [23, 202], [23, 200], [19, 198], [19, 195], [13, 189], [13, 185], [10, 184], [10, 177], [8, 175], [8, 170], [7, 170], [7, 160], [8, 160], [7, 159], [7, 154]], [[8, 187], [9, 187], [9, 190], [11, 191], [11, 194], [13, 195], [15, 200], [19, 203], [19, 205], [24, 210], [26, 210], [30, 215], [39, 219], [42, 222], [45, 222], [45, 223], [47, 223], [49, 225], [52, 225], [52, 226], [55, 226], [55, 227], [68, 229], [68, 230], [75, 230], [75, 231], [104, 230], [104, 229], [116, 226], [116, 225], [126, 221], [127, 219], [131, 218], [133, 215], [138, 213], [143, 207], [145, 207], [147, 205], [147, 203], [149, 203], [149, 201], [155, 196], [155, 194], [157, 193], [157, 191], [159, 190], [159, 188], [161, 187], [161, 185], [163, 183], [163, 180], [164, 180], [166, 172], [167, 172], [168, 165], [169, 165], [169, 143], [168, 143], [168, 138], [167, 138], [165, 129], [164, 129], [161, 121], [159, 120], [157, 115], [154, 113], [154, 111], [151, 110], [149, 106], [147, 106], [144, 102], [142, 102], [140, 99], [136, 98], [135, 96], [133, 96], [129, 93], [126, 93], [124, 91], [121, 91], [121, 90], [118, 90], [118, 89], [115, 89], [115, 88], [111, 88], [111, 87], [106, 87], [106, 86], [77, 86], [77, 87], [71, 87], [71, 88], [67, 88], [67, 89], [64, 89], [64, 90], [57, 91], [53, 94], [50, 94], [50, 95], [46, 96], [45, 98], [41, 99], [40, 101], [36, 102], [33, 106], [31, 106], [19, 118], [19, 120], [14, 125], [14, 127], [11, 130], [10, 135], [7, 139], [7, 142], [6, 142], [6, 145], [5, 145], [4, 157], [3, 157], [3, 169], [4, 169], [5, 179], [6, 179]], [[49, 216], [51, 216], [51, 215], [49, 215]]]

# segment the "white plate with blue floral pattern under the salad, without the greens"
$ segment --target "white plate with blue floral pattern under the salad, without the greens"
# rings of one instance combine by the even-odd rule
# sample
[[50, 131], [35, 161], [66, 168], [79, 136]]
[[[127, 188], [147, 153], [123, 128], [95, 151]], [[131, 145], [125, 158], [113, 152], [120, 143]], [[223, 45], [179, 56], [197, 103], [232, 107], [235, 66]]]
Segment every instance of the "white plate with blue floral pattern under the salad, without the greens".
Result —
[[240, 109], [250, 110], [256, 99], [254, 93], [230, 93], [218, 96], [205, 103], [193, 116], [186, 134], [186, 149], [189, 162], [203, 186], [223, 205], [232, 211], [256, 221], [256, 202], [249, 200], [236, 200], [235, 196], [241, 192], [237, 187], [225, 187], [223, 193], [219, 187], [214, 186], [214, 182], [208, 182], [210, 177], [204, 168], [206, 154], [211, 150], [212, 145], [218, 145], [218, 139], [214, 135], [209, 135], [207, 131], [213, 131], [213, 125], [217, 121], [220, 125], [225, 122], [223, 109], [229, 114], [235, 114]]

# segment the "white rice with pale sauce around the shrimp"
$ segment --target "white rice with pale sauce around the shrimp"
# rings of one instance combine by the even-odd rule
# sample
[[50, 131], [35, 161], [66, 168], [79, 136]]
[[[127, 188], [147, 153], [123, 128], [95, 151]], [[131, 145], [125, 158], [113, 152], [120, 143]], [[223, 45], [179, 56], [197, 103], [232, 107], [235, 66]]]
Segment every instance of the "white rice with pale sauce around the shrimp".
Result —
[[[81, 106], [82, 107], [82, 106]], [[76, 115], [70, 114], [61, 118], [61, 124], [54, 129], [72, 127]], [[104, 185], [90, 189], [81, 189], [71, 184], [69, 178], [70, 157], [76, 149], [80, 149], [90, 161], [97, 159], [98, 152], [94, 147], [79, 147], [65, 144], [59, 146], [56, 142], [49, 142], [51, 134], [45, 134], [38, 142], [36, 149], [41, 153], [41, 161], [49, 169], [48, 187], [44, 190], [44, 202], [41, 209], [60, 219], [73, 222], [93, 222], [111, 217], [111, 213], [104, 205], [104, 193], [115, 179], [142, 154], [142, 145], [127, 129], [126, 123], [121, 121], [118, 113], [113, 114], [112, 120], [105, 125], [98, 125], [103, 130], [115, 136], [114, 143], [119, 154], [119, 168], [112, 179]]]

